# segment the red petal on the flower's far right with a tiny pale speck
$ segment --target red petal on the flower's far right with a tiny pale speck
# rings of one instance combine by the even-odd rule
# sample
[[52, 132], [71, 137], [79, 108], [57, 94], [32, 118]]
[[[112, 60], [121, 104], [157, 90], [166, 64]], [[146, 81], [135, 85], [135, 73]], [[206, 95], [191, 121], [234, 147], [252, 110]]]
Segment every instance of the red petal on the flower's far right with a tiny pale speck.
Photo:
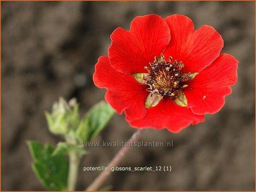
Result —
[[184, 94], [188, 107], [195, 114], [214, 114], [220, 111], [225, 104], [225, 96], [231, 93], [229, 86], [237, 82], [237, 64], [233, 56], [221, 54], [191, 82], [188, 81]]

